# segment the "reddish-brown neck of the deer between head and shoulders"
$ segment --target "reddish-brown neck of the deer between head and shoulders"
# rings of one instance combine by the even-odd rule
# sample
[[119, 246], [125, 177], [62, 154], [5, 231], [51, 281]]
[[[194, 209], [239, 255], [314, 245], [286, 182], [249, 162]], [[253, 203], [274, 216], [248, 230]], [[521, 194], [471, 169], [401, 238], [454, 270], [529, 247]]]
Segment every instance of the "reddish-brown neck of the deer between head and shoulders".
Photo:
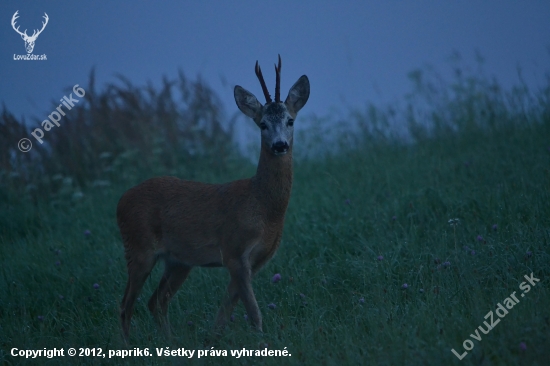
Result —
[[284, 219], [292, 189], [292, 145], [283, 156], [275, 156], [262, 146], [252, 184], [269, 221]]

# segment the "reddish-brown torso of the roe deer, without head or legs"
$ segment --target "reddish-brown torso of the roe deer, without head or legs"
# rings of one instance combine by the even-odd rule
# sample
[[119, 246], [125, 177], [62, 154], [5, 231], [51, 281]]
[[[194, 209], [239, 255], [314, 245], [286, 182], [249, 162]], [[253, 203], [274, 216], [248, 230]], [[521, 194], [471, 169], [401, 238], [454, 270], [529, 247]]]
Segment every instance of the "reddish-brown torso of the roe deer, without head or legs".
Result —
[[[225, 184], [175, 177], [149, 179], [121, 198], [119, 222], [128, 235], [143, 235], [143, 228], [150, 228], [153, 246], [143, 251], [132, 247], [137, 255], [148, 257], [152, 248], [155, 257], [190, 267], [221, 267], [224, 258], [226, 261], [234, 258], [235, 253], [244, 253], [247, 248], [253, 259], [265, 257], [273, 254], [278, 245], [272, 233], [282, 230], [292, 186], [291, 158], [285, 156], [284, 162], [283, 159], [273, 162], [269, 157], [265, 162], [261, 159], [258, 170], [272, 160], [271, 165], [278, 165], [283, 178], [280, 181], [268, 178], [263, 186], [260, 182], [265, 183], [264, 180], [257, 176]], [[228, 222], [233, 224], [227, 225]], [[250, 238], [253, 246], [243, 243], [242, 238]]]

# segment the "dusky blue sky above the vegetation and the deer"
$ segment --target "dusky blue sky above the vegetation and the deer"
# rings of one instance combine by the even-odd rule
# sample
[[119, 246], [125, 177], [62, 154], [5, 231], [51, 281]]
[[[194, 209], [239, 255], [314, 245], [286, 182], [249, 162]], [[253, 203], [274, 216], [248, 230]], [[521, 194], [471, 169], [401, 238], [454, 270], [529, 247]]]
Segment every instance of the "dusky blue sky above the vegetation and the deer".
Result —
[[[49, 24], [34, 54], [47, 61], [14, 61], [25, 54], [20, 29]], [[158, 84], [162, 75], [200, 74], [236, 111], [233, 86], [261, 96], [258, 59], [270, 89], [273, 63], [283, 59], [282, 94], [302, 74], [311, 81], [305, 113], [323, 115], [367, 100], [392, 101], [408, 90], [407, 72], [425, 64], [449, 70], [453, 51], [470, 66], [475, 50], [485, 71], [505, 86], [520, 65], [529, 84], [548, 71], [548, 1], [11, 1], [0, 3], [0, 101], [17, 116], [42, 120], [74, 84], [97, 84], [121, 73]], [[273, 91], [272, 91], [273, 93]]]

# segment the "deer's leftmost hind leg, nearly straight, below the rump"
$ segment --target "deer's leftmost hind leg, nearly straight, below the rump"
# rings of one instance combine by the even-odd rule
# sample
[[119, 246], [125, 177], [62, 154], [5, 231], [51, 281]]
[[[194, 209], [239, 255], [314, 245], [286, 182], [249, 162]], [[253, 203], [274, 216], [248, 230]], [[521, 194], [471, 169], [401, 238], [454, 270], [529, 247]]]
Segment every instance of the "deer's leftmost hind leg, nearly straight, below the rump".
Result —
[[[127, 245], [126, 248], [130, 248]], [[143, 288], [143, 284], [155, 266], [156, 258], [154, 253], [143, 252], [140, 255], [132, 256], [127, 250], [126, 260], [128, 263], [128, 282], [120, 305], [120, 321], [124, 339], [128, 342], [130, 335], [130, 321], [134, 311], [134, 303]]]

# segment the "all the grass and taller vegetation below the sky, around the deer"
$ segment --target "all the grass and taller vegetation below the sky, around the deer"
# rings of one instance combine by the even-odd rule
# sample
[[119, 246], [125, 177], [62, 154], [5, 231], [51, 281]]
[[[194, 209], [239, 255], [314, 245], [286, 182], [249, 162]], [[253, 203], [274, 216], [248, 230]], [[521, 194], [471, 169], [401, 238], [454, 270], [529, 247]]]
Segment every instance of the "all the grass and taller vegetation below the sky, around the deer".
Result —
[[[211, 338], [229, 276], [196, 269], [171, 303], [175, 334], [165, 340], [146, 308], [159, 265], [136, 305], [131, 346], [267, 345], [292, 354], [196, 364], [546, 364], [550, 75], [536, 91], [521, 83], [503, 90], [458, 67], [452, 80], [428, 69], [410, 79], [400, 104], [352, 111], [348, 130], [334, 132], [335, 118], [302, 117], [314, 128], [297, 136], [283, 243], [254, 280], [263, 335], [250, 331], [239, 305], [223, 337]], [[200, 80], [180, 73], [155, 90], [120, 78], [97, 91], [92, 72], [85, 90], [85, 103], [27, 154], [16, 142], [40, 121], [25, 126], [6, 107], [0, 118], [4, 364], [25, 363], [10, 355], [13, 347], [125, 348], [118, 307], [126, 267], [115, 208], [126, 189], [156, 175], [224, 182], [255, 172], [237, 153], [235, 119]], [[273, 283], [276, 273], [282, 279]], [[530, 273], [540, 282], [459, 362], [451, 348], [462, 353], [485, 314], [519, 294]]]

